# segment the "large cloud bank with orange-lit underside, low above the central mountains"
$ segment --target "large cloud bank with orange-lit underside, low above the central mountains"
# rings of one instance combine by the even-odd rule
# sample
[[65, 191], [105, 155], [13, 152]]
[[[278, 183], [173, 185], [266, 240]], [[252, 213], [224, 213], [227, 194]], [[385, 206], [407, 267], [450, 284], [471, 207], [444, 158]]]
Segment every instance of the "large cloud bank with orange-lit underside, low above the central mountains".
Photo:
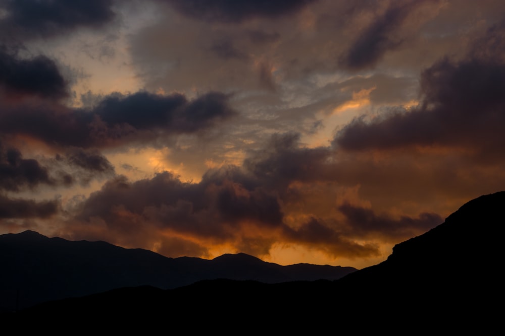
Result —
[[[351, 205], [332, 192], [340, 183], [355, 183], [345, 181], [347, 167], [331, 160], [334, 155], [330, 147], [300, 147], [299, 135], [287, 133], [272, 136], [242, 167], [211, 169], [198, 183], [182, 182], [169, 172], [138, 181], [118, 176], [85, 199], [69, 225], [105, 225], [114, 239], [130, 243], [137, 231], [157, 231], [188, 242], [188, 251], [195, 253], [226, 245], [267, 255], [280, 243], [354, 258], [379, 255], [377, 239], [397, 242], [441, 222], [433, 213], [396, 219]], [[311, 195], [314, 183], [324, 183], [327, 191]]]

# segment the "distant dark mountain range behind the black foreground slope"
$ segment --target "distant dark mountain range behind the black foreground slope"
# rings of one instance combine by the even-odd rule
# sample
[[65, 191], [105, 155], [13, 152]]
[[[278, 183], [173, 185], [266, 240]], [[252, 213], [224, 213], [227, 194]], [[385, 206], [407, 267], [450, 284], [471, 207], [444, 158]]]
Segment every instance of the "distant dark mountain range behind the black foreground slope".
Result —
[[16, 310], [122, 287], [170, 289], [219, 278], [264, 283], [334, 280], [354, 271], [329, 265], [281, 266], [244, 253], [213, 260], [167, 258], [103, 241], [68, 241], [25, 231], [0, 235], [0, 309]]

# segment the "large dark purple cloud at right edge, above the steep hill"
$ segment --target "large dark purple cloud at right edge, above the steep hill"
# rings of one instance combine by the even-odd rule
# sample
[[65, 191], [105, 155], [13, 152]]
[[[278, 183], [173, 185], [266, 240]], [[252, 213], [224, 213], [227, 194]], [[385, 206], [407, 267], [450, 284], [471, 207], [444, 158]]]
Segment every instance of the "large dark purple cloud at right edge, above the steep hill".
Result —
[[[502, 33], [500, 31], [500, 33]], [[487, 36], [497, 31], [490, 29]], [[359, 117], [345, 126], [334, 143], [346, 150], [392, 149], [404, 146], [451, 146], [489, 151], [501, 157], [505, 145], [505, 44], [480, 40], [477, 58], [442, 58], [421, 76], [422, 102], [367, 121]], [[499, 39], [500, 40], [500, 39]], [[496, 41], [496, 40], [494, 40]], [[496, 52], [501, 50], [501, 52]], [[494, 55], [494, 57], [492, 56]]]

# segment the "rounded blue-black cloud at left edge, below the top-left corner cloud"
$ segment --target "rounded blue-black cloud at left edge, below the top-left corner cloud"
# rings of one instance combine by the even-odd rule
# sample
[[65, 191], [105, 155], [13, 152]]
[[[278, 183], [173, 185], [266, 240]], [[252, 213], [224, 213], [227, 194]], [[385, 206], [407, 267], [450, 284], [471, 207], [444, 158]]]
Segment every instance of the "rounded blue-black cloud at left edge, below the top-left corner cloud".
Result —
[[0, 88], [10, 95], [37, 95], [62, 98], [68, 95], [67, 83], [56, 63], [45, 56], [21, 59], [0, 46]]

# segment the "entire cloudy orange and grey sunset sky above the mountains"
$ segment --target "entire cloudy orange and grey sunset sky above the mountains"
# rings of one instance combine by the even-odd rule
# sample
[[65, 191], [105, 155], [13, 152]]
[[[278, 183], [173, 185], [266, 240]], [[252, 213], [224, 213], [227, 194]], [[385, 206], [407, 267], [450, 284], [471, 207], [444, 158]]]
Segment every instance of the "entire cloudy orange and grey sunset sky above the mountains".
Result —
[[502, 0], [0, 0], [0, 234], [376, 264], [505, 190], [503, 18]]

